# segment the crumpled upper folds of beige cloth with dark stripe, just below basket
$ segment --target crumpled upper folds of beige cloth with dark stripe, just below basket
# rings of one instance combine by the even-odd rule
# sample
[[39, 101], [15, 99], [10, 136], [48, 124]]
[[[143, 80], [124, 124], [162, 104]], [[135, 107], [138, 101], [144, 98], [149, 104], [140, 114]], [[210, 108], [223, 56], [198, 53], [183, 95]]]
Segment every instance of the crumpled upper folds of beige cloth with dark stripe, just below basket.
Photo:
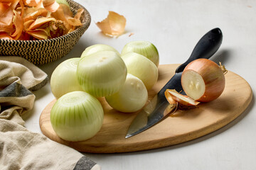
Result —
[[0, 57], [0, 118], [23, 125], [17, 115], [33, 108], [35, 96], [31, 91], [48, 82], [45, 72], [21, 57]]

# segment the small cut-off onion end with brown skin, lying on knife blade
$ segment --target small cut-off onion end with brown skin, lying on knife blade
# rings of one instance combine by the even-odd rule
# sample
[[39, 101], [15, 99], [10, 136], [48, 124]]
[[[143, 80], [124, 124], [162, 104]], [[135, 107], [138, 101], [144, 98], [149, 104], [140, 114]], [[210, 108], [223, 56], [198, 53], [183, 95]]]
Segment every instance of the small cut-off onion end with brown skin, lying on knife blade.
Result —
[[183, 106], [196, 106], [200, 103], [198, 101], [194, 101], [192, 98], [188, 96], [179, 94], [174, 89], [166, 89], [164, 94], [166, 96], [167, 101], [169, 101], [170, 104], [174, 104], [176, 101]]

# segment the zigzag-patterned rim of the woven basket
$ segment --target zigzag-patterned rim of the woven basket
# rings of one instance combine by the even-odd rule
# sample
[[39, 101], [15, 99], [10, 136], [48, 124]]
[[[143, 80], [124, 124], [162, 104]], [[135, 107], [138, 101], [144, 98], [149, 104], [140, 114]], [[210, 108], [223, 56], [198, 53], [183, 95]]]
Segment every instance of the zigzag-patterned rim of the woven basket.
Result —
[[73, 4], [77, 5], [77, 6], [79, 6], [80, 8], [84, 9], [84, 15], [85, 15], [86, 20], [85, 20], [85, 22], [82, 23], [82, 26], [76, 28], [75, 30], [73, 30], [72, 32], [70, 32], [68, 34], [62, 35], [62, 36], [57, 37], [57, 38], [50, 38], [50, 39], [46, 39], [46, 40], [4, 40], [4, 39], [0, 39], [0, 42], [23, 42], [23, 43], [26, 43], [26, 42], [35, 42], [35, 43], [47, 42], [49, 40], [50, 41], [54, 41], [54, 40], [59, 40], [59, 39], [67, 38], [70, 35], [73, 35], [77, 31], [82, 30], [84, 28], [86, 30], [90, 26], [90, 22], [91, 22], [90, 13], [87, 11], [87, 9], [84, 6], [80, 5], [78, 2], [73, 1], [73, 0], [67, 0], [67, 1], [68, 1], [68, 4], [73, 3]]

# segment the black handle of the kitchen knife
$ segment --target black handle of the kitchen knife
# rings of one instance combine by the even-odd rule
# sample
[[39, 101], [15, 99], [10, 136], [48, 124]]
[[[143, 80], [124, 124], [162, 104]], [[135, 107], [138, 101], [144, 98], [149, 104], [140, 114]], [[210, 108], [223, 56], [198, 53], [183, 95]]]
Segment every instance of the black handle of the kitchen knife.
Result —
[[183, 69], [185, 69], [186, 65], [193, 60], [198, 58], [210, 58], [220, 47], [222, 40], [223, 34], [220, 28], [214, 28], [213, 30], [210, 30], [198, 41], [188, 60], [177, 67], [175, 72], [183, 72]]

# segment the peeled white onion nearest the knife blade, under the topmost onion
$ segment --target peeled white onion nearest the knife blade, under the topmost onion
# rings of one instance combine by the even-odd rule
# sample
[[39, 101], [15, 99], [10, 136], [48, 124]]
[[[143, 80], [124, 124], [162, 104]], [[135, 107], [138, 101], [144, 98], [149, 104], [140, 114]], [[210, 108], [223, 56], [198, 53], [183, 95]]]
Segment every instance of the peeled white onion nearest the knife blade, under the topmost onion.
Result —
[[139, 111], [145, 105], [148, 93], [146, 86], [139, 78], [127, 74], [127, 79], [121, 89], [112, 96], [105, 98], [107, 103], [115, 110], [131, 113]]

